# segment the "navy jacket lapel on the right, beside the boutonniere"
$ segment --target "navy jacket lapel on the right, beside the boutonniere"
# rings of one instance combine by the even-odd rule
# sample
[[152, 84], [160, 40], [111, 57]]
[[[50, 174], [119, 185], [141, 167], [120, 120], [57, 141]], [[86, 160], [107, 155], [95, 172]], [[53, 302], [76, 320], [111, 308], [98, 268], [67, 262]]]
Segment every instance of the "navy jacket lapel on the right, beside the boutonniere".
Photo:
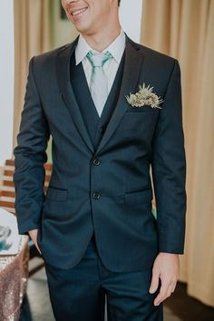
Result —
[[112, 137], [113, 132], [122, 121], [122, 117], [129, 106], [126, 102], [125, 96], [130, 92], [134, 92], [138, 84], [141, 65], [144, 59], [140, 49], [140, 47], [133, 44], [131, 39], [126, 36], [125, 63], [119, 99], [96, 152], [101, 151], [107, 141]]

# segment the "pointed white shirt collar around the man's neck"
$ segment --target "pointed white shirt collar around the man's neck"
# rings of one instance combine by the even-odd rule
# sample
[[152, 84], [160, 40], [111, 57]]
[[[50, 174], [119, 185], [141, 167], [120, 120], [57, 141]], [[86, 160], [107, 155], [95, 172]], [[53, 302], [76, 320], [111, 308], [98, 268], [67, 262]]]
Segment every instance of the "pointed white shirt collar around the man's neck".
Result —
[[[112, 53], [112, 56], [116, 60], [116, 62], [120, 63], [122, 59], [122, 53], [124, 52], [124, 49], [125, 49], [125, 43], [126, 43], [125, 33], [121, 29], [121, 33], [114, 39], [112, 44], [110, 44], [107, 48], [105, 48], [102, 51], [102, 53], [105, 53], [107, 51]], [[83, 38], [83, 35], [80, 34], [78, 43], [75, 49], [76, 65], [83, 61], [84, 57], [90, 50], [92, 50], [92, 52], [96, 52], [86, 42], [86, 40]]]

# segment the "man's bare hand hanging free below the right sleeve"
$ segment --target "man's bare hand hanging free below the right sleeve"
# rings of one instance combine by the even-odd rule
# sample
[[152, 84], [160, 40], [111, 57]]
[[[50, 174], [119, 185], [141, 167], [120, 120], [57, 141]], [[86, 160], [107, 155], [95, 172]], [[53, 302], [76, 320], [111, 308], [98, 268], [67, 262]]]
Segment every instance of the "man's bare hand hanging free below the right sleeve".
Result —
[[176, 283], [179, 277], [179, 254], [163, 253], [155, 258], [152, 268], [152, 278], [150, 293], [154, 293], [159, 287], [161, 281], [160, 292], [154, 300], [154, 306], [159, 306], [160, 303], [167, 297], [170, 297], [174, 292]]

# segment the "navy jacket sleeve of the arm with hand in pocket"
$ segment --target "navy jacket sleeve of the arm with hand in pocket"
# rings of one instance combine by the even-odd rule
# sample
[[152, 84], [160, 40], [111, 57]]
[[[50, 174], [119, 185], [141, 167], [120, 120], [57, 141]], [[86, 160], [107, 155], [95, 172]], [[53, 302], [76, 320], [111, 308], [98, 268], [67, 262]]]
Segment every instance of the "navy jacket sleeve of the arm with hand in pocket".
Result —
[[20, 234], [38, 229], [44, 203], [44, 162], [49, 129], [34, 81], [34, 57], [29, 63], [24, 110], [15, 147], [15, 212]]

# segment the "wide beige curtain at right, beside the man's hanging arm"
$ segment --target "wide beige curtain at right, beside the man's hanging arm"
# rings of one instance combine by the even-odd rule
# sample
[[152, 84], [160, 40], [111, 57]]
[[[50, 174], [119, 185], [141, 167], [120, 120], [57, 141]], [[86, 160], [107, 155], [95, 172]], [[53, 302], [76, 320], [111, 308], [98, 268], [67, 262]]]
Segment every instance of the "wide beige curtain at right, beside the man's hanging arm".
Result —
[[143, 0], [141, 44], [180, 62], [188, 195], [180, 281], [214, 306], [214, 1]]

